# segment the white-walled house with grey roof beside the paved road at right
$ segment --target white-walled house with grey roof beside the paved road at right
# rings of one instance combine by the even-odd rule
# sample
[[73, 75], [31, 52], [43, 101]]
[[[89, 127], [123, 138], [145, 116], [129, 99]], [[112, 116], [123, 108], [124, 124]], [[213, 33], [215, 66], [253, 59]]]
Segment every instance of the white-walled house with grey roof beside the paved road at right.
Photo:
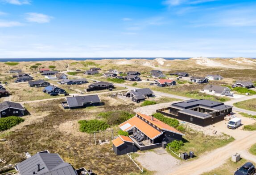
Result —
[[205, 85], [203, 87], [203, 92], [212, 95], [225, 95], [226, 93], [230, 93], [230, 91], [228, 87], [220, 85]]

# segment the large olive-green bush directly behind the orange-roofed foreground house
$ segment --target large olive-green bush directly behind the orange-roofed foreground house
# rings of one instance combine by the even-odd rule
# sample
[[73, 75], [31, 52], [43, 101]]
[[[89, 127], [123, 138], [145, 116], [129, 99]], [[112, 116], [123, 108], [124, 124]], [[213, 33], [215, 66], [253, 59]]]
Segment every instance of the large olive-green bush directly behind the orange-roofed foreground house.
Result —
[[134, 114], [130, 114], [122, 110], [116, 110], [101, 112], [98, 114], [98, 116], [104, 118], [108, 125], [119, 125], [125, 122], [126, 120], [132, 118]]

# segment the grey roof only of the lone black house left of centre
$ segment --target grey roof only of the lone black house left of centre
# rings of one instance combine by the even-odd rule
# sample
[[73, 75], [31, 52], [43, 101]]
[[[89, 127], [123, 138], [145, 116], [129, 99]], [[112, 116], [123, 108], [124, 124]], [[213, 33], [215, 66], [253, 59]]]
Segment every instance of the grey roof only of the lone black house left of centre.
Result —
[[69, 107], [83, 106], [83, 103], [88, 103], [88, 102], [92, 102], [92, 103], [101, 102], [98, 95], [67, 97], [66, 101]]

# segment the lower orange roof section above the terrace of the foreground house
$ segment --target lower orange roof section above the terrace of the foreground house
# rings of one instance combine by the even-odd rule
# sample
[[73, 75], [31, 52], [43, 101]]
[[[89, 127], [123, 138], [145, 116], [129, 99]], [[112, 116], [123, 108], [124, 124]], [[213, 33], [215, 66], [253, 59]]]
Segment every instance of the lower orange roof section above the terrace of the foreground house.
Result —
[[119, 127], [124, 131], [130, 130], [134, 126], [151, 139], [157, 137], [158, 135], [161, 135], [160, 131], [153, 128], [153, 126], [150, 126], [148, 123], [142, 121], [136, 116], [119, 125]]

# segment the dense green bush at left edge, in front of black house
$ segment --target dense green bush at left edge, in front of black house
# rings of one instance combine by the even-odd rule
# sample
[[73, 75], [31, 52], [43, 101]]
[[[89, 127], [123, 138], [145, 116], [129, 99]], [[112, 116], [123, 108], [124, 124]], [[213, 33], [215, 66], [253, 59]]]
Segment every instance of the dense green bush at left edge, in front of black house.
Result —
[[24, 122], [24, 119], [16, 116], [0, 118], [0, 131], [8, 130], [21, 122]]

